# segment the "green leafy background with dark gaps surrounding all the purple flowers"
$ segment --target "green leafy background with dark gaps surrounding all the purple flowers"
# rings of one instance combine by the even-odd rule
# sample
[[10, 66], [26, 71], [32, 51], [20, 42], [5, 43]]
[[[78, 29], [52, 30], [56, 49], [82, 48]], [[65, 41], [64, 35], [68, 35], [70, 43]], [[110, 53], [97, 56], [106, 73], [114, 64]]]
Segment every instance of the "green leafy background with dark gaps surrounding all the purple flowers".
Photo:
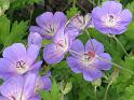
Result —
[[[70, 18], [77, 13], [91, 12], [94, 6], [105, 1], [107, 0], [0, 0], [0, 55], [13, 43], [22, 42], [27, 45], [28, 28], [36, 24], [35, 18], [39, 14], [62, 11]], [[118, 1], [134, 14], [134, 0]], [[105, 95], [107, 100], [134, 100], [134, 20], [125, 33], [117, 35], [130, 54], [129, 57], [113, 39], [95, 29], [90, 29], [89, 32], [105, 45], [106, 52], [112, 56], [112, 61], [123, 68], [113, 66], [105, 77], [89, 83], [81, 74], [72, 73], [65, 59], [53, 66], [44, 62], [42, 72], [48, 69], [52, 71], [53, 86], [51, 91], [40, 92], [43, 100], [104, 100]], [[88, 37], [83, 33], [79, 39], [85, 43]], [[44, 40], [43, 46], [50, 42]], [[39, 59], [42, 59], [41, 55]], [[109, 89], [106, 94], [107, 86]]]

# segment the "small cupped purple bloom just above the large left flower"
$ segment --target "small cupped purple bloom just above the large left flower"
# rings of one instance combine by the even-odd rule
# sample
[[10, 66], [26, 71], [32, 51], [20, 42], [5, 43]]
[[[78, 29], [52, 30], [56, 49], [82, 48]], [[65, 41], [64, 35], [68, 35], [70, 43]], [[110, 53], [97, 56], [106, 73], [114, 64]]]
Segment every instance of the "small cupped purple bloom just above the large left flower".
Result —
[[28, 46], [32, 44], [39, 48], [42, 46], [42, 37], [38, 32], [30, 32], [28, 35]]

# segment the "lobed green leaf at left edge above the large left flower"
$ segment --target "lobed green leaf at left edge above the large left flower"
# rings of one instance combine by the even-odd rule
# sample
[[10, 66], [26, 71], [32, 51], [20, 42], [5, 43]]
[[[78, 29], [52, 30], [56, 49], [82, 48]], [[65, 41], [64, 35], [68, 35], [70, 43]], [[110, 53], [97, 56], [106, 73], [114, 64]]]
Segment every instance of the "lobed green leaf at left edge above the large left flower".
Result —
[[23, 38], [27, 34], [28, 22], [15, 22], [11, 24], [6, 16], [0, 17], [0, 43], [9, 46], [15, 42], [23, 42]]

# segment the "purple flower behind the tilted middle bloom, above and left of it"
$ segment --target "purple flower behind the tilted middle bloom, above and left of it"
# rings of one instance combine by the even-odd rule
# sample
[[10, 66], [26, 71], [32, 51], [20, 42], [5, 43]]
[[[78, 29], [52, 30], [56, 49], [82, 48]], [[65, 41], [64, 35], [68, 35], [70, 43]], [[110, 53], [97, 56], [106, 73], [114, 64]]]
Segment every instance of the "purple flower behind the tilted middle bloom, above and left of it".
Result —
[[31, 26], [29, 30], [40, 33], [44, 39], [52, 39], [57, 29], [66, 24], [67, 18], [63, 12], [56, 12], [54, 15], [45, 12], [38, 16], [36, 22], [38, 26]]

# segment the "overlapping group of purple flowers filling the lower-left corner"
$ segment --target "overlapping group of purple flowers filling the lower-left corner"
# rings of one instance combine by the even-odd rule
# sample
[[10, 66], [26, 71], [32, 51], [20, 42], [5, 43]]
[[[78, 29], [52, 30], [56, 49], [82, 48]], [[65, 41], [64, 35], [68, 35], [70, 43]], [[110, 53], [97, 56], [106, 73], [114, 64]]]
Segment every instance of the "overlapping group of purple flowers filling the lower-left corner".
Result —
[[41, 100], [38, 91], [51, 89], [50, 72], [40, 76], [42, 61], [36, 62], [40, 47], [29, 43], [26, 48], [15, 43], [3, 51], [0, 58], [0, 100]]

